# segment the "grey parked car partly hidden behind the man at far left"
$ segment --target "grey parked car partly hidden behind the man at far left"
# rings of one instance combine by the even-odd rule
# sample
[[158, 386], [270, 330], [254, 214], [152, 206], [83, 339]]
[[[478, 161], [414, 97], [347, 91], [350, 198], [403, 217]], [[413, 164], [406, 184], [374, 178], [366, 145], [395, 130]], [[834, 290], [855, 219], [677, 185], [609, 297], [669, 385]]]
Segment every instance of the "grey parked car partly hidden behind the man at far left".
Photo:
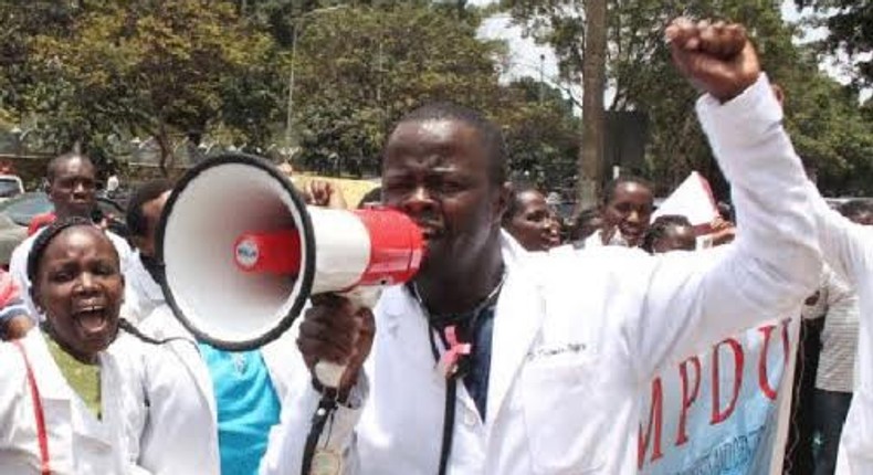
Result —
[[[9, 267], [12, 251], [28, 238], [28, 225], [34, 217], [46, 214], [54, 210], [49, 201], [49, 196], [42, 191], [30, 191], [0, 202], [0, 266]], [[109, 229], [123, 238], [127, 238], [124, 225], [124, 208], [117, 202], [97, 198], [97, 212], [95, 220], [107, 218]]]

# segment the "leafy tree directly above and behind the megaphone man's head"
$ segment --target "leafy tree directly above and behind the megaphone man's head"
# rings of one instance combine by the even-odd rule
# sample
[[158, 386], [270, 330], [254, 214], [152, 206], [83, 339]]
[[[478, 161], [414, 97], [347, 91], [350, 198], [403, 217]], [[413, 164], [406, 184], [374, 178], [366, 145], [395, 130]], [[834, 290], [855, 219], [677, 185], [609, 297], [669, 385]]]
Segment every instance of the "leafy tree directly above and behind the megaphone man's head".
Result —
[[476, 39], [475, 15], [459, 21], [450, 12], [396, 2], [306, 19], [294, 92], [294, 134], [305, 168], [377, 173], [389, 127], [428, 102], [494, 110], [501, 45]]

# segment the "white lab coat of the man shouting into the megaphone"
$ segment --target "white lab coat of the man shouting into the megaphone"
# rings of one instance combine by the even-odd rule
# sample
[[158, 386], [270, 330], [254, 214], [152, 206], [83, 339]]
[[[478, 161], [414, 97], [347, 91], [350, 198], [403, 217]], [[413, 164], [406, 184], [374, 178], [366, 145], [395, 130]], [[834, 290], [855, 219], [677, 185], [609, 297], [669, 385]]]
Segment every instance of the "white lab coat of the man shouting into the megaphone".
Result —
[[[795, 310], [817, 286], [804, 173], [767, 80], [724, 105], [705, 97], [698, 114], [733, 183], [736, 243], [659, 257], [565, 246], [508, 265], [487, 419], [459, 384], [450, 474], [635, 474], [639, 394], [656, 369]], [[431, 475], [445, 383], [427, 321], [403, 287], [386, 291], [375, 315], [369, 399], [362, 410], [340, 409], [320, 446], [343, 453], [349, 474]], [[263, 473], [299, 472], [317, 399], [314, 390], [292, 393], [298, 409]]]

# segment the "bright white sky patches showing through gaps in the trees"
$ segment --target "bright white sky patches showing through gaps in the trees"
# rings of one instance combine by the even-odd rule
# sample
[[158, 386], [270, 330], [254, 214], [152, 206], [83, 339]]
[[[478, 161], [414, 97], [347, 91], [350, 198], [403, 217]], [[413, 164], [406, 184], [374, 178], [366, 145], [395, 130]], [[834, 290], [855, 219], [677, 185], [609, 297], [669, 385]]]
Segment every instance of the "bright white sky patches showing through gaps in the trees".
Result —
[[[475, 6], [487, 6], [494, 3], [494, 0], [471, 0], [470, 3]], [[796, 22], [803, 18], [803, 14], [798, 12], [792, 0], [783, 0], [782, 2], [782, 17], [791, 22]], [[480, 28], [478, 34], [481, 38], [505, 40], [509, 48], [507, 59], [507, 67], [503, 74], [504, 81], [512, 81], [514, 78], [530, 76], [535, 78], [543, 78], [544, 82], [551, 85], [560, 86], [558, 80], [558, 64], [554, 51], [548, 46], [536, 44], [533, 40], [523, 38], [522, 28], [513, 25], [507, 13], [498, 13], [485, 20]], [[804, 30], [803, 36], [797, 39], [798, 42], [813, 41], [823, 38], [827, 30]], [[835, 59], [834, 61], [827, 61], [821, 64], [829, 75], [834, 77], [842, 84], [849, 82], [849, 76], [845, 73], [848, 67], [848, 60]], [[562, 87], [566, 89], [566, 87]], [[578, 87], [571, 87], [570, 93], [579, 98], [581, 92]], [[606, 101], [609, 104], [612, 92], [607, 91]], [[862, 94], [862, 101], [871, 96], [871, 91]]]

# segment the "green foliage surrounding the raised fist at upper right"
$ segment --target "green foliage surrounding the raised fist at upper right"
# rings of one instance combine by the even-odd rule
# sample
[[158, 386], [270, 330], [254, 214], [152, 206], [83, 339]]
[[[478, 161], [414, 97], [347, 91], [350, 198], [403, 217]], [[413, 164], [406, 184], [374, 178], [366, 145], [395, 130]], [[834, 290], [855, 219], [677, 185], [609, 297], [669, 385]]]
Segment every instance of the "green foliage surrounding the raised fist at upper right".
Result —
[[[608, 108], [648, 114], [649, 175], [661, 193], [670, 191], [691, 170], [703, 172], [719, 191], [726, 191], [693, 113], [697, 93], [676, 72], [663, 42], [664, 25], [679, 14], [745, 24], [765, 68], [789, 96], [788, 128], [800, 156], [819, 168], [824, 188], [873, 192], [869, 179], [852, 179], [870, 169], [867, 145], [873, 127], [858, 110], [856, 96], [840, 93], [839, 86], [818, 71], [816, 57], [792, 43], [797, 31], [783, 22], [780, 3], [704, 0], [677, 7], [653, 0], [609, 2], [607, 71], [614, 99]], [[581, 2], [504, 0], [503, 4], [528, 34], [555, 48], [564, 78], [576, 81], [585, 54]]]

